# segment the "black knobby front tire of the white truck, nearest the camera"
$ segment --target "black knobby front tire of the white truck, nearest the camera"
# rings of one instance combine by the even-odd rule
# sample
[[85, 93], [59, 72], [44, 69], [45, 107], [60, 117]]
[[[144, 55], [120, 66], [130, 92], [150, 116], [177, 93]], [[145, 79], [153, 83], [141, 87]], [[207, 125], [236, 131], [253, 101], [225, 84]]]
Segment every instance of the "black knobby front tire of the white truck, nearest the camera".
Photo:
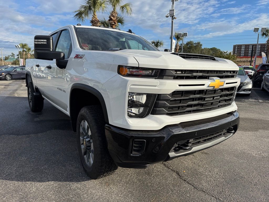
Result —
[[[84, 143], [82, 143], [82, 136], [84, 136], [85, 131], [83, 123], [87, 122], [87, 128], [90, 134], [87, 140], [91, 139], [92, 146], [90, 147], [90, 153], [93, 153], [93, 161], [89, 163], [86, 159], [86, 154], [84, 154], [82, 148], [85, 148]], [[90, 138], [89, 138], [90, 137]], [[91, 179], [100, 179], [114, 173], [118, 168], [115, 165], [113, 159], [109, 155], [107, 149], [107, 143], [105, 138], [105, 121], [104, 114], [101, 106], [93, 105], [83, 107], [77, 118], [77, 147], [79, 150], [79, 157], [82, 162], [82, 166]], [[86, 147], [89, 149], [89, 147]], [[91, 150], [93, 147], [93, 151]], [[86, 158], [86, 159], [85, 159]], [[89, 165], [91, 164], [91, 165]]]

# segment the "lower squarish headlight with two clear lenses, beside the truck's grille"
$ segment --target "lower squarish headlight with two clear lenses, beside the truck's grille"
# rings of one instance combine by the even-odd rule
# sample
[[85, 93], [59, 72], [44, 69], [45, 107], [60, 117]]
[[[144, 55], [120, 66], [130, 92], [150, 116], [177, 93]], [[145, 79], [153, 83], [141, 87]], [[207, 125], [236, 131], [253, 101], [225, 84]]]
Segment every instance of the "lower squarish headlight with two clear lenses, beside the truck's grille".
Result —
[[144, 118], [150, 114], [157, 95], [128, 93], [127, 115], [130, 118]]

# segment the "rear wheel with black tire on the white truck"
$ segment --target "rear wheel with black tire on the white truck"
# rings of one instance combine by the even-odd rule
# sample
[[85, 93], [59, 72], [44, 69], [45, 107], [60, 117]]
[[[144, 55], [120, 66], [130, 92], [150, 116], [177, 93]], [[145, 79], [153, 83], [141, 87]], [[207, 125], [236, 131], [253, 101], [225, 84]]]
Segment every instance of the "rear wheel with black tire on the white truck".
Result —
[[32, 112], [41, 112], [44, 106], [43, 97], [34, 96], [34, 86], [32, 82], [27, 85], [28, 103]]

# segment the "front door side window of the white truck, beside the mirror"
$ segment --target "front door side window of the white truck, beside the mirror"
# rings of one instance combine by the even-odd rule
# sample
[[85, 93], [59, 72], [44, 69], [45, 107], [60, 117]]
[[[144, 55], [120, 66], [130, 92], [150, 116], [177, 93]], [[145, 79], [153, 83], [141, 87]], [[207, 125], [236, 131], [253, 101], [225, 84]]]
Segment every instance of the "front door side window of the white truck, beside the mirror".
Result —
[[59, 37], [55, 51], [61, 51], [65, 54], [65, 58], [69, 58], [71, 54], [71, 50], [72, 50], [72, 46], [71, 46], [71, 38], [70, 38], [69, 31], [63, 30]]

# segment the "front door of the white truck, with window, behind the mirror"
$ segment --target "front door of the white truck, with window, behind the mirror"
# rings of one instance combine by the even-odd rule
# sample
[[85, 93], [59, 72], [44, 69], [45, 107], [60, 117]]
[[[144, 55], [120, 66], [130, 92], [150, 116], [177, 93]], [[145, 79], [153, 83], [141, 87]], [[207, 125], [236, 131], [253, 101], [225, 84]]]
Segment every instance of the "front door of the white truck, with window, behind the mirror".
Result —
[[[65, 59], [68, 60], [72, 52], [72, 43], [70, 32], [68, 29], [60, 31], [57, 37], [55, 51], [62, 51]], [[68, 112], [69, 95], [66, 93], [68, 72], [56, 66], [56, 60], [48, 61], [47, 64], [47, 89], [49, 93], [48, 99], [58, 107]]]

